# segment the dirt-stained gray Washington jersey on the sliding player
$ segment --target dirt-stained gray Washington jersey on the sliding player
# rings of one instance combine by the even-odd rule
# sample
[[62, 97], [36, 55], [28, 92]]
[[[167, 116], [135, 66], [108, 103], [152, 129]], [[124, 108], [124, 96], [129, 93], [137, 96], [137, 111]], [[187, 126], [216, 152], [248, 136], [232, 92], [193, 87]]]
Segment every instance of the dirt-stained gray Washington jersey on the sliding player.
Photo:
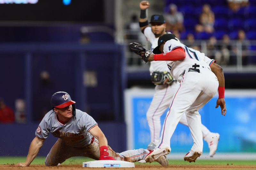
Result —
[[78, 109], [76, 116], [72, 116], [70, 121], [63, 125], [58, 121], [57, 114], [51, 110], [45, 114], [35, 134], [38, 138], [45, 139], [51, 132], [68, 146], [84, 147], [92, 141], [89, 131], [97, 125], [90, 115]]

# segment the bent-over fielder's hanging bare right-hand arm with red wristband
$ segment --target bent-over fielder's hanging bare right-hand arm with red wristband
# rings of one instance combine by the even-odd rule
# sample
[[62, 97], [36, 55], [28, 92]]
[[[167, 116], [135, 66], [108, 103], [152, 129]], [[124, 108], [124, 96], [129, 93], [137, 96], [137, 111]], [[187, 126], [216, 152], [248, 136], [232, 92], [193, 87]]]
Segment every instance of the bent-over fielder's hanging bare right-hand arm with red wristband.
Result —
[[218, 88], [219, 98], [217, 100], [215, 108], [218, 108], [220, 106], [221, 114], [225, 116], [226, 112], [227, 112], [227, 108], [226, 108], [226, 102], [224, 99], [224, 97], [225, 97], [224, 96], [225, 78], [224, 78], [223, 69], [218, 64], [215, 64], [215, 63], [212, 63], [210, 67], [211, 67], [212, 72], [216, 75], [216, 77], [218, 78], [218, 81], [219, 81], [219, 88]]

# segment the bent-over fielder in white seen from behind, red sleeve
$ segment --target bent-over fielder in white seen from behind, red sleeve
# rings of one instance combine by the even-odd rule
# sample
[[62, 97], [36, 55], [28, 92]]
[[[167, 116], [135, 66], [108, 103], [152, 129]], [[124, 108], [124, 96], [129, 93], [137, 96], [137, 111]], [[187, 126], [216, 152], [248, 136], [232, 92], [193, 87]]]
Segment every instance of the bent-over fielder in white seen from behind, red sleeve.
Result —
[[[136, 43], [130, 44], [131, 49], [134, 49], [134, 44]], [[140, 56], [146, 62], [167, 61], [171, 75], [180, 82], [180, 85], [176, 89], [165, 117], [160, 141], [157, 147], [147, 155], [145, 161], [158, 161], [160, 156], [162, 159], [163, 156], [171, 152], [170, 139], [180, 118], [185, 113], [194, 144], [184, 156], [184, 160], [195, 162], [203, 152], [201, 116], [198, 110], [212, 99], [217, 89], [219, 98], [215, 108], [220, 106], [221, 114], [226, 115], [223, 70], [204, 53], [181, 44], [174, 34], [160, 36], [157, 44], [158, 46], [153, 50], [153, 53], [143, 49], [140, 51]]]

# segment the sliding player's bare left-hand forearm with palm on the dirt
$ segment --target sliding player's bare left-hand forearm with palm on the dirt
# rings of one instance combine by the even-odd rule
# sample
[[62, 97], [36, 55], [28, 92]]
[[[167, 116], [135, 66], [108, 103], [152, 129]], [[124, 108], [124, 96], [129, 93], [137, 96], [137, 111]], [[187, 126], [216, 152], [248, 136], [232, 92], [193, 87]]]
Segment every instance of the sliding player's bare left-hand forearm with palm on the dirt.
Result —
[[45, 139], [38, 138], [37, 136], [32, 140], [29, 150], [28, 156], [25, 162], [17, 163], [15, 166], [29, 166], [31, 162], [36, 158], [40, 148], [43, 146]]

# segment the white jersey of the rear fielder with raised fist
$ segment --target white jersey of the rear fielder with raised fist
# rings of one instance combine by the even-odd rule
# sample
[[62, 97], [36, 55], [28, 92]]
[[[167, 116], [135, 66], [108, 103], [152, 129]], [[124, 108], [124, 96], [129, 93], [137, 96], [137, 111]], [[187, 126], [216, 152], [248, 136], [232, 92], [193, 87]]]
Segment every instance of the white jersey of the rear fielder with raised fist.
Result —
[[[168, 32], [170, 33], [170, 32]], [[157, 46], [158, 38], [156, 38], [155, 34], [152, 32], [151, 27], [146, 27], [144, 29], [144, 35], [147, 38], [148, 41], [151, 43], [151, 51], [154, 50]], [[166, 61], [151, 61], [150, 67], [149, 67], [150, 73], [153, 73], [154, 71], [169, 71]]]

